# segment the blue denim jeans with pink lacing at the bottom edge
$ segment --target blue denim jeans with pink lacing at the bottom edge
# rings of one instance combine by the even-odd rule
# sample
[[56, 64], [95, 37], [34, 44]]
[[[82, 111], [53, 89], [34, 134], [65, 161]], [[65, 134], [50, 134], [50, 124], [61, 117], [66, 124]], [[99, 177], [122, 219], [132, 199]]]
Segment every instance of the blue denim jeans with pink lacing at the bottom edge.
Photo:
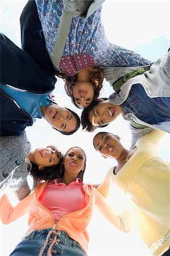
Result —
[[[10, 256], [38, 256], [50, 230], [52, 229], [35, 230], [16, 246]], [[80, 244], [72, 240], [67, 233], [64, 231], [57, 232], [60, 234], [57, 234], [57, 244], [52, 247], [52, 256], [86, 256]], [[53, 238], [54, 235], [50, 234], [43, 256], [47, 255], [48, 248], [51, 245], [50, 239], [53, 240]]]

